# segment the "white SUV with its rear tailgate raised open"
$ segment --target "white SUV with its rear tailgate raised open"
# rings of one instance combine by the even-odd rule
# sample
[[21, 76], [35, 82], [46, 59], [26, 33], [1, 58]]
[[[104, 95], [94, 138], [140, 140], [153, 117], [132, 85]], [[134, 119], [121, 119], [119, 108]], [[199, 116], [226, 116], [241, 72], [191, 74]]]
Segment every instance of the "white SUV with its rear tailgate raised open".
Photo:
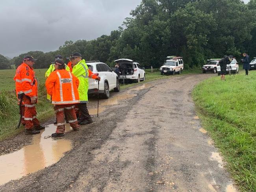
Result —
[[131, 59], [117, 59], [114, 62], [119, 65], [119, 70], [121, 72], [119, 79], [124, 81], [132, 80], [137, 83], [145, 80], [145, 68], [141, 67], [139, 63], [136, 63]]

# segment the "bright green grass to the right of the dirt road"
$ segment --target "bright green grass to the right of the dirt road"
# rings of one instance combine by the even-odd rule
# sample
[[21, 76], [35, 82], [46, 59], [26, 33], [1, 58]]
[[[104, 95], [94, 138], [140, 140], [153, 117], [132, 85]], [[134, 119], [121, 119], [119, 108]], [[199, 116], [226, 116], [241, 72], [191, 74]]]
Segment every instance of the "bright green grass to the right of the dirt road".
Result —
[[193, 99], [240, 190], [256, 192], [256, 71], [203, 81]]

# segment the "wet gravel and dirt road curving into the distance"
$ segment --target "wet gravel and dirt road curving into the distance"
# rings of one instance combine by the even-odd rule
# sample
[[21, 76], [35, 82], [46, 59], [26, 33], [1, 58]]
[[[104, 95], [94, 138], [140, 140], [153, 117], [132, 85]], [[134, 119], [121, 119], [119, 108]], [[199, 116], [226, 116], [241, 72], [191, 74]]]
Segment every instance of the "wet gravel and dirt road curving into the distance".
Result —
[[194, 111], [191, 91], [209, 76], [175, 76], [111, 94], [127, 98], [101, 100], [93, 124], [65, 135], [72, 150], [59, 162], [0, 191], [237, 191]]

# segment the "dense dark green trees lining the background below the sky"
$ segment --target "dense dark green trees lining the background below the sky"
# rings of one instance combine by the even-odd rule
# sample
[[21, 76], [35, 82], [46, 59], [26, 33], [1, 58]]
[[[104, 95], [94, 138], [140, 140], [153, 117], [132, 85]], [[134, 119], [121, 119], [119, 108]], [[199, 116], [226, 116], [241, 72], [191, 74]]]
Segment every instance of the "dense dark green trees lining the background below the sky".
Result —
[[185, 68], [223, 55], [256, 56], [256, 0], [142, 0], [130, 15], [118, 30], [95, 40], [66, 41], [54, 52], [31, 51], [12, 60], [0, 55], [0, 69], [20, 65], [26, 54], [38, 59], [36, 68], [48, 68], [56, 54], [73, 52], [110, 66], [129, 58], [154, 68], [168, 55], [182, 56]]

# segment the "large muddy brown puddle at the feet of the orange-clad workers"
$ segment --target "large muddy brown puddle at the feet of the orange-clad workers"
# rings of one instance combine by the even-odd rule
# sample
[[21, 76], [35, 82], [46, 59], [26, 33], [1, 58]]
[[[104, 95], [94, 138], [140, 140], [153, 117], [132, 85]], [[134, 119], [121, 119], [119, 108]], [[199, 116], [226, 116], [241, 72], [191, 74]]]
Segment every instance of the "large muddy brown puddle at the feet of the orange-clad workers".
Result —
[[[50, 166], [58, 162], [63, 153], [71, 150], [70, 140], [54, 140], [50, 137], [56, 127], [53, 124], [46, 126], [40, 134], [32, 136], [32, 145], [0, 156], [0, 185]], [[69, 131], [70, 126], [67, 124], [66, 132]]]

